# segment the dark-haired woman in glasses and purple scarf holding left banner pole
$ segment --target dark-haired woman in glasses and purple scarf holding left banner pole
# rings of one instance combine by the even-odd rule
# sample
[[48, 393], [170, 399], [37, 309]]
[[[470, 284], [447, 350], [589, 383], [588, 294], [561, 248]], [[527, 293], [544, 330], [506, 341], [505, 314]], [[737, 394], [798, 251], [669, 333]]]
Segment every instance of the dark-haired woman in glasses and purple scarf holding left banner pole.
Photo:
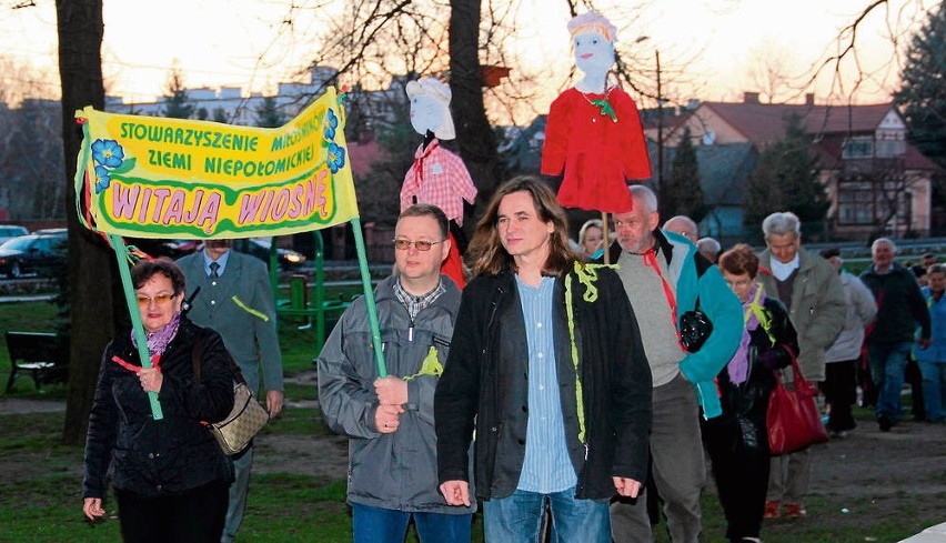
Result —
[[[207, 422], [233, 409], [233, 371], [217, 332], [181, 311], [184, 274], [170, 260], [131, 270], [152, 366], [142, 368], [132, 332], [105, 348], [89, 418], [82, 511], [105, 514], [109, 465], [127, 542], [219, 542], [233, 466]], [[163, 419], [154, 420], [149, 392]]]

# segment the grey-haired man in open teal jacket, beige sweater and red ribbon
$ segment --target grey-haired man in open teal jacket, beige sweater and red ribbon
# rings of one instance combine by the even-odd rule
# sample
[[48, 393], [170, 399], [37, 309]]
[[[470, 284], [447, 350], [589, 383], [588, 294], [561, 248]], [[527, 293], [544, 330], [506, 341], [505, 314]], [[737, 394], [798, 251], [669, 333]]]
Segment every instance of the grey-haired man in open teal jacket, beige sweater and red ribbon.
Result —
[[[700, 494], [706, 483], [700, 409], [705, 419], [722, 413], [713, 380], [742, 339], [742, 303], [691, 240], [658, 229], [654, 192], [642, 184], [630, 190], [633, 209], [614, 214], [617, 240], [610, 248], [611, 262], [617, 263], [637, 313], [650, 363], [652, 475], [664, 501], [671, 539], [695, 543], [702, 531]], [[713, 329], [698, 350], [688, 352], [681, 341], [681, 321], [694, 309], [708, 318]], [[614, 541], [653, 541], [646, 494], [612, 504]]]

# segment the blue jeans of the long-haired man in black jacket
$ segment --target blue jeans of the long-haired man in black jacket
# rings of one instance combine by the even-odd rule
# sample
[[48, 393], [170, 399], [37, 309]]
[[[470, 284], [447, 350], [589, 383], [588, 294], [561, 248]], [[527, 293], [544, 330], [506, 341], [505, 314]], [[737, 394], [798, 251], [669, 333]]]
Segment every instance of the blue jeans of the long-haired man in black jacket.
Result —
[[486, 541], [539, 541], [546, 499], [552, 510], [553, 542], [611, 543], [608, 501], [578, 500], [574, 486], [551, 494], [517, 490], [507, 497], [483, 502]]

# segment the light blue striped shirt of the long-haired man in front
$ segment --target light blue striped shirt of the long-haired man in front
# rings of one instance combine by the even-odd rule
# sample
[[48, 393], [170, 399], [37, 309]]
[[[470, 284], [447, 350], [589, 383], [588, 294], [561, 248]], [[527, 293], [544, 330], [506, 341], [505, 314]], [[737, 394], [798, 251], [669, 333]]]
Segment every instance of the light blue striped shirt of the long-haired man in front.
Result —
[[555, 371], [555, 342], [552, 336], [554, 278], [542, 278], [539, 288], [516, 276], [519, 299], [525, 319], [529, 343], [529, 425], [525, 433], [525, 460], [517, 490], [549, 494], [577, 484], [575, 467], [568, 457], [558, 374]]

